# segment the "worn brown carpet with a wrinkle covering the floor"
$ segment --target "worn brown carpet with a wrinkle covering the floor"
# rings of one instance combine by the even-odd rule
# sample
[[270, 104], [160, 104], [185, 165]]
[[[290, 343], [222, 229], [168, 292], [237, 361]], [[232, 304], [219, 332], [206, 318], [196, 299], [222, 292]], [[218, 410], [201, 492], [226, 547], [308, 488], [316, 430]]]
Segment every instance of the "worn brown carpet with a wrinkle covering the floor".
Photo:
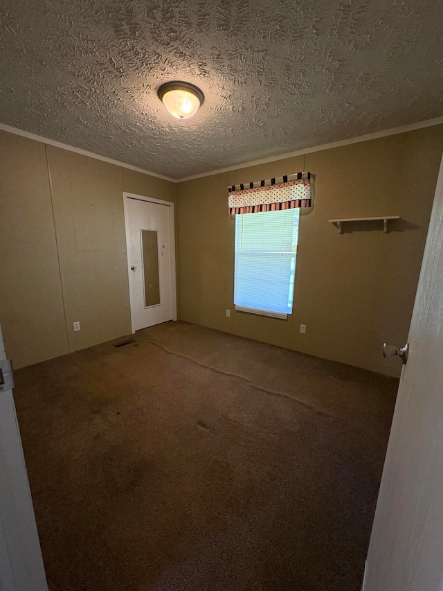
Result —
[[397, 380], [184, 322], [134, 338], [17, 371], [51, 590], [359, 591]]

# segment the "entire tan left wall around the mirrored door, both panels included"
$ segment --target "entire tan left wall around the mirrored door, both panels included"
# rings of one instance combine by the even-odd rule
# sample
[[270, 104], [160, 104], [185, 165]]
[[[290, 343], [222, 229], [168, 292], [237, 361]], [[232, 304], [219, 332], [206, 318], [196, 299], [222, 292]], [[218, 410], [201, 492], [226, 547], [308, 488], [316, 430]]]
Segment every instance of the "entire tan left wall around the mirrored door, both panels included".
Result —
[[176, 185], [6, 132], [0, 156], [0, 323], [15, 367], [130, 333], [123, 191], [174, 202]]

